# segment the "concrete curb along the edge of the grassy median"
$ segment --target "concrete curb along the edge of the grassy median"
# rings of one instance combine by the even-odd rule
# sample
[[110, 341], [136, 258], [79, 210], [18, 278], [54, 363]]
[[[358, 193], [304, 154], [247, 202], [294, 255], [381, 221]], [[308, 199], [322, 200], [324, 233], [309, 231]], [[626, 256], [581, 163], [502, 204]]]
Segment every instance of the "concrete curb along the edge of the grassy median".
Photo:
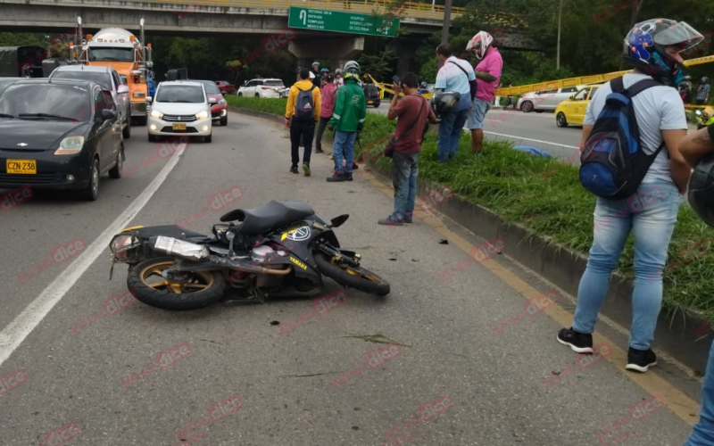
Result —
[[[231, 110], [282, 123], [281, 117], [263, 111], [246, 111], [235, 108], [231, 108]], [[391, 182], [389, 168], [378, 166], [371, 160], [368, 162], [374, 172]], [[429, 194], [440, 187], [441, 185], [419, 178], [417, 196]], [[536, 235], [525, 227], [508, 223], [493, 211], [466, 202], [458, 195], [439, 205], [437, 211], [486, 240], [502, 236], [506, 244], [505, 254], [527, 268], [533, 269], [566, 293], [577, 296], [577, 286], [580, 283], [580, 277], [585, 272], [587, 263], [585, 254], [555, 244], [547, 237]], [[610, 290], [601, 309], [603, 316], [626, 328], [630, 326], [632, 320], [633, 285], [632, 280], [617, 274], [614, 275], [610, 280]], [[705, 322], [703, 318], [690, 311], [678, 313], [671, 319], [664, 313], [660, 313], [654, 347], [682, 362], [685, 366], [703, 373], [709, 356], [710, 342], [708, 339], [695, 342], [698, 335], [694, 333], [693, 326], [699, 327]]]

